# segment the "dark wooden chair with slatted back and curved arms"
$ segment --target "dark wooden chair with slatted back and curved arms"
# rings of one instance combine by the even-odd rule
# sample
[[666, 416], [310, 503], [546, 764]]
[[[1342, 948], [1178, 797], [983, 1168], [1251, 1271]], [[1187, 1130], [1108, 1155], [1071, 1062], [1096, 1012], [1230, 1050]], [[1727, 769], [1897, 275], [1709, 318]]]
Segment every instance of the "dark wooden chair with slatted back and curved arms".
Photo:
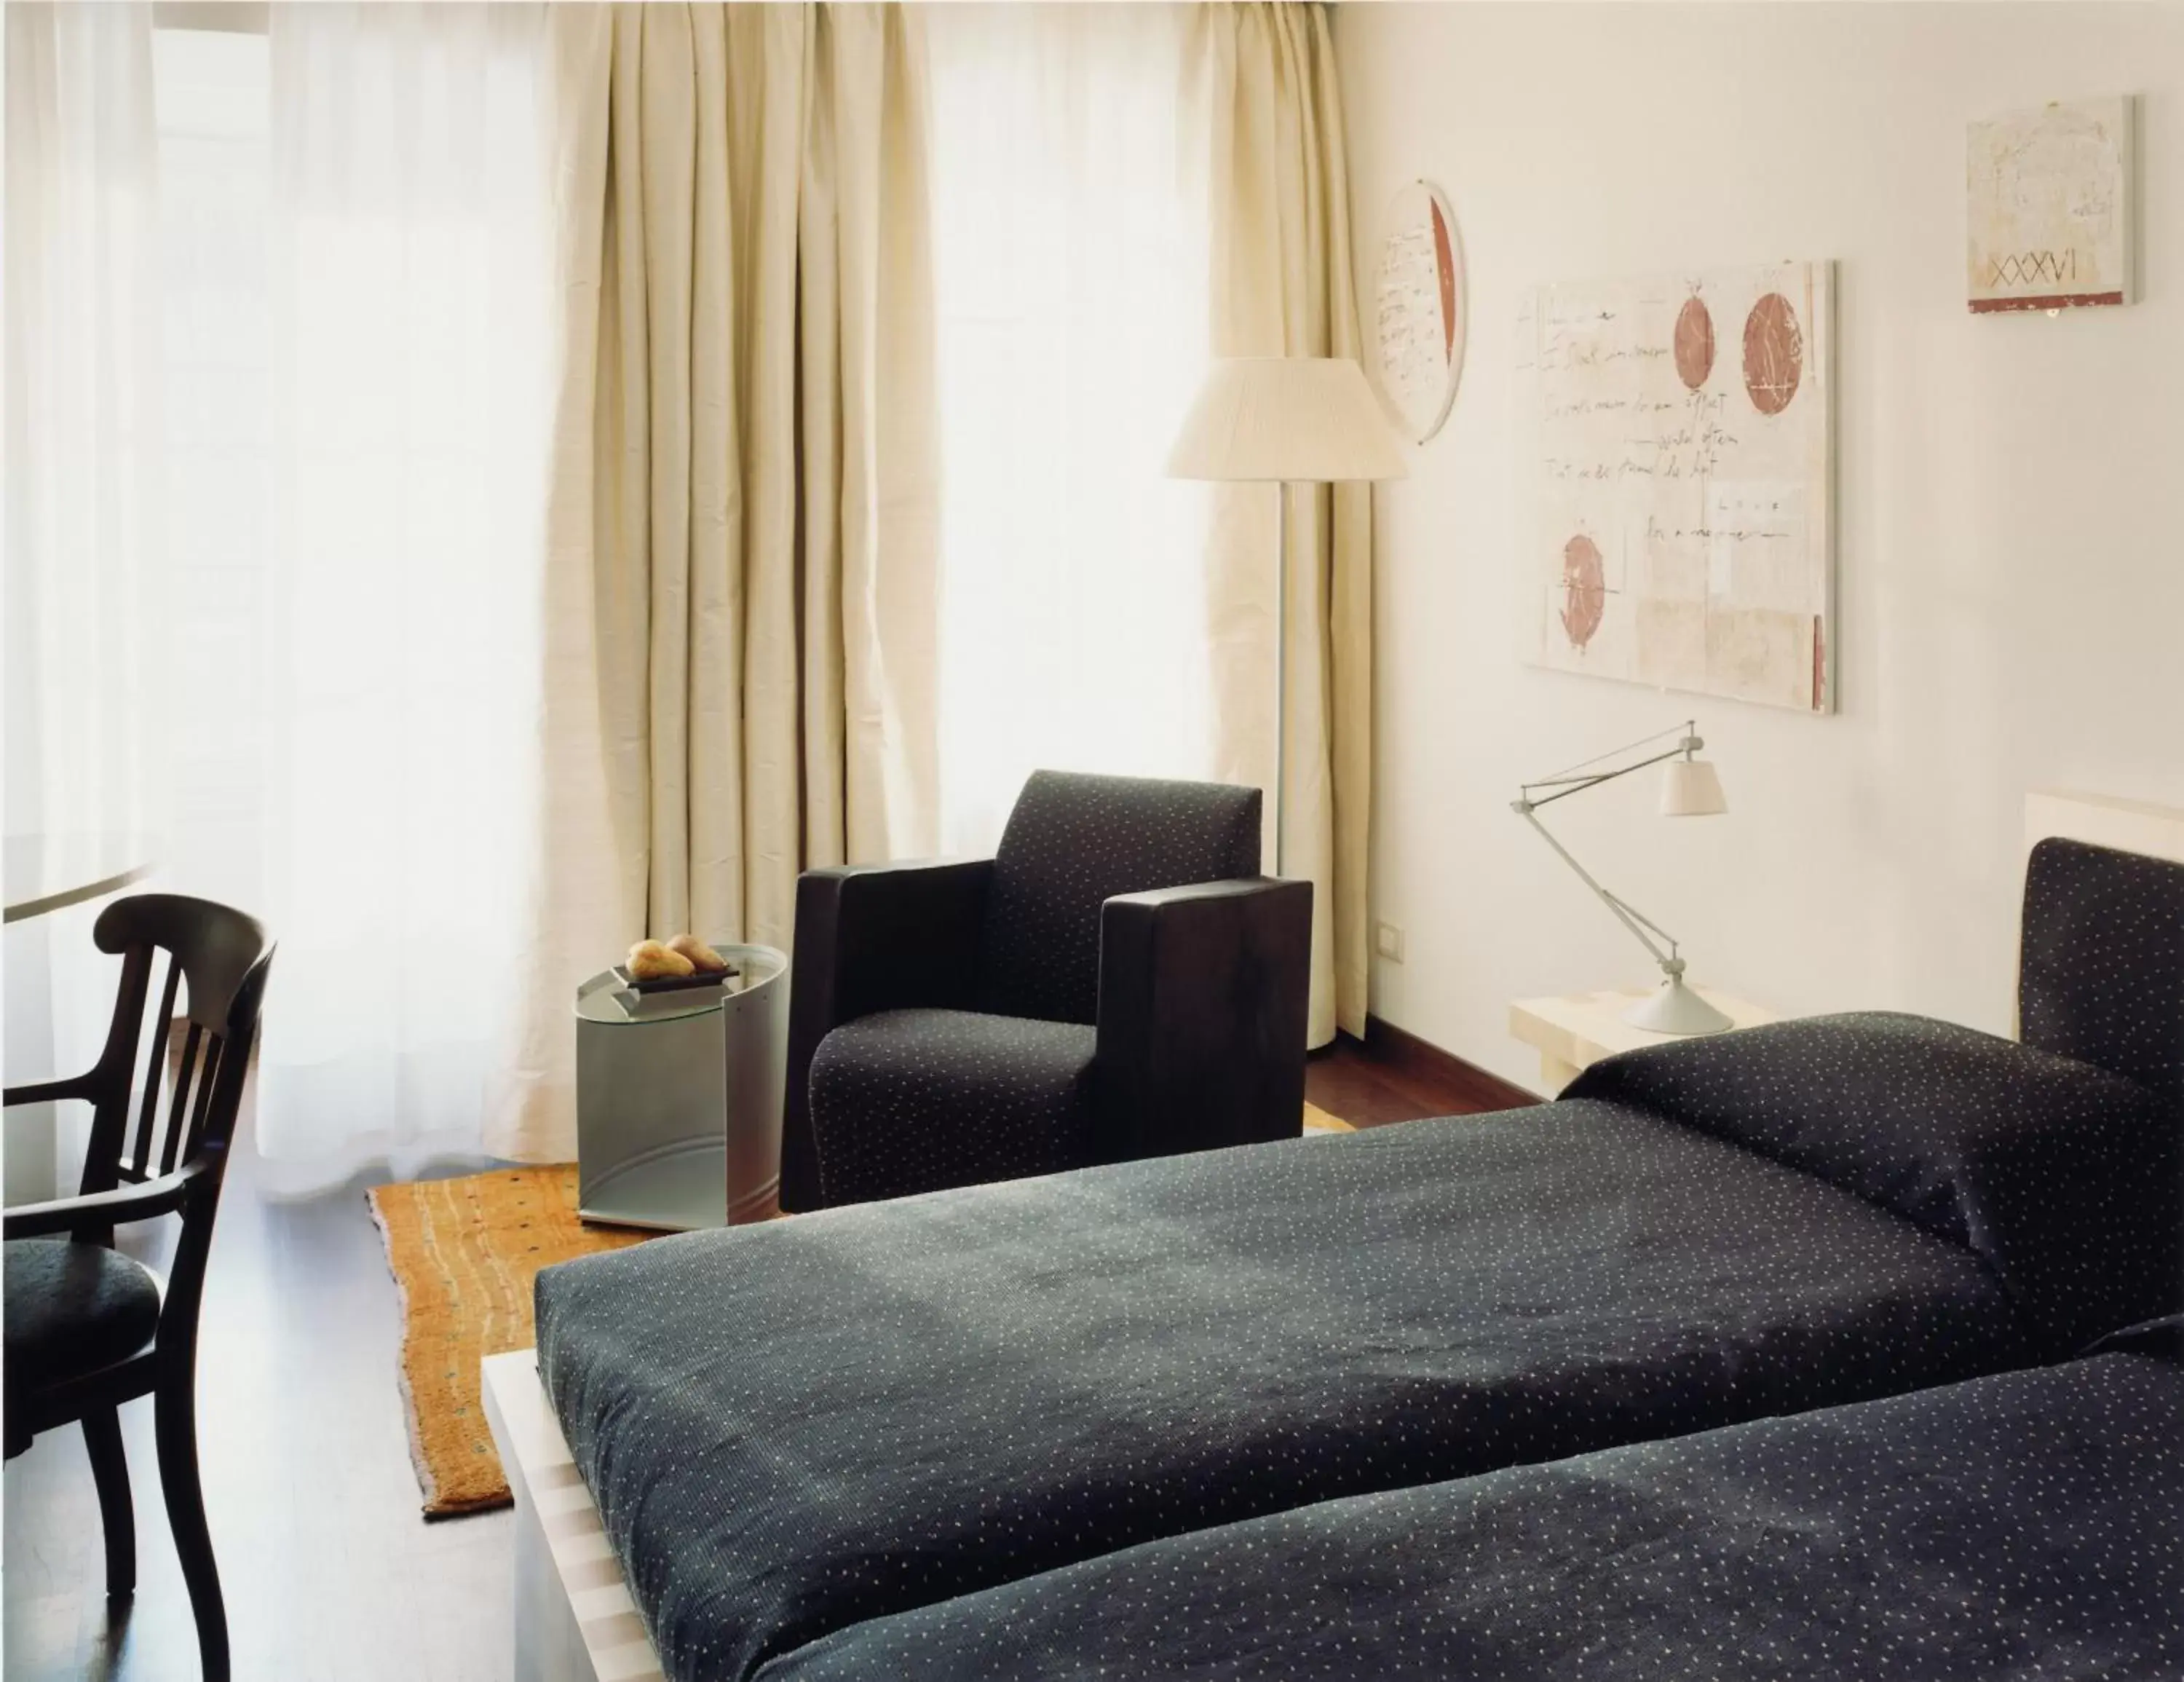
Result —
[[[177, 893], [116, 900], [92, 939], [122, 959], [98, 1064], [76, 1079], [7, 1092], [11, 1105], [92, 1105], [81, 1191], [4, 1215], [7, 1457], [41, 1431], [83, 1426], [105, 1523], [107, 1595], [127, 1597], [135, 1590], [135, 1516], [116, 1409], [153, 1398], [159, 1488], [199, 1654], [207, 1682], [225, 1682], [227, 1612], [197, 1479], [197, 1306], [273, 946], [253, 917]], [[166, 985], [138, 1064], [162, 950]], [[179, 1055], [170, 1046], [177, 996], [188, 1024]], [[142, 1097], [133, 1105], [138, 1068]], [[162, 1289], [157, 1274], [114, 1247], [114, 1228], [166, 1215], [181, 1217], [181, 1232]]]

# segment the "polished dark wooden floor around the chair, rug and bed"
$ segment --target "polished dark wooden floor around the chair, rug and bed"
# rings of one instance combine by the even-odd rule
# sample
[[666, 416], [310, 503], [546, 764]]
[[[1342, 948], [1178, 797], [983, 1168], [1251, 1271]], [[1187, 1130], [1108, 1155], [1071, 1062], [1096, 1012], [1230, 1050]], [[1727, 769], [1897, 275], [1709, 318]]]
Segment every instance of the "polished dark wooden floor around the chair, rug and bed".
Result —
[[[1487, 1107], [1461, 1081], [1356, 1040], [1313, 1057], [1306, 1092], [1358, 1127]], [[258, 1193], [253, 1164], [242, 1142], [212, 1245], [199, 1354], [205, 1507], [234, 1673], [496, 1682], [511, 1662], [509, 1514], [435, 1525], [417, 1516], [395, 1387], [400, 1308], [365, 1206], [371, 1182], [284, 1204]], [[7, 1464], [7, 1682], [197, 1675], [151, 1400], [122, 1409], [122, 1431], [138, 1592], [114, 1625], [83, 1435], [52, 1431]]]

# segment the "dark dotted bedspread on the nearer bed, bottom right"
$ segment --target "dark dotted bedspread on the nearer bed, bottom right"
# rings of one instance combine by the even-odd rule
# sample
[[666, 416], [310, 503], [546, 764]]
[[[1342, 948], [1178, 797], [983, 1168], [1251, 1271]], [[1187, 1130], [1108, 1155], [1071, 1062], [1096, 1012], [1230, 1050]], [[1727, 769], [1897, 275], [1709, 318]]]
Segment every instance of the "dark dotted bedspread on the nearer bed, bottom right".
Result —
[[1330, 1501], [854, 1625], [847, 1678], [2184, 1675], [2184, 1367], [2105, 1354]]

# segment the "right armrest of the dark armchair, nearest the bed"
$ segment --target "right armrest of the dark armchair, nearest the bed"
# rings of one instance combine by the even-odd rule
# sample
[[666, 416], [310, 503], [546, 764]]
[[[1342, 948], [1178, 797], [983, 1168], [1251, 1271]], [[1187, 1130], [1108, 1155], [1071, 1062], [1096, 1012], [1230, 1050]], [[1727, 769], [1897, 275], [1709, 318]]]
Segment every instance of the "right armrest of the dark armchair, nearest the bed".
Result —
[[1107, 900], [1092, 1059], [1099, 1160], [1302, 1132], [1310, 966], [1310, 883], [1254, 876]]

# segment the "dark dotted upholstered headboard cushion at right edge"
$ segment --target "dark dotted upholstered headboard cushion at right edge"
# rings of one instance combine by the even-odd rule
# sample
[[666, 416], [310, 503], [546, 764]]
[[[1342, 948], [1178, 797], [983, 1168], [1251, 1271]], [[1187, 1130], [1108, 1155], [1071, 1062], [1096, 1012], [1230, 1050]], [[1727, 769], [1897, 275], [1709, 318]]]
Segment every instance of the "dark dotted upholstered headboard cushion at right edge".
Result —
[[2084, 841], [2033, 848], [2018, 1038], [2184, 1105], [2184, 865]]

